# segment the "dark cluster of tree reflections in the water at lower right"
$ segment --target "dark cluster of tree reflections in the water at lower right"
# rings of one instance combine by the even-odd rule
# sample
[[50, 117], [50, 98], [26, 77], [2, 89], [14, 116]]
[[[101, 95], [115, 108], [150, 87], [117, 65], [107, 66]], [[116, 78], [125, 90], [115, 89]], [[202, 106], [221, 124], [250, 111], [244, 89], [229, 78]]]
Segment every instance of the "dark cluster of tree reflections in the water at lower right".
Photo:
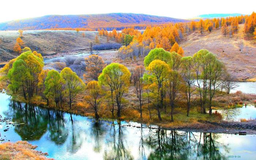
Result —
[[198, 136], [192, 132], [157, 129], [146, 139], [153, 151], [148, 159], [226, 159], [226, 155], [219, 151], [219, 147], [223, 146], [215, 138], [218, 137], [212, 133], [200, 133]]

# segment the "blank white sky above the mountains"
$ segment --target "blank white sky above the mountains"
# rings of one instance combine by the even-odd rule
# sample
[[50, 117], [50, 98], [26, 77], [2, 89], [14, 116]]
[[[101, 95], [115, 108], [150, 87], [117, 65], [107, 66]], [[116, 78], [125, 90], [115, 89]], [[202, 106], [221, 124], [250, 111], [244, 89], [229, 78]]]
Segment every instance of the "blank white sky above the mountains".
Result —
[[189, 19], [211, 13], [251, 14], [255, 0], [1, 0], [0, 22], [45, 15], [143, 13]]

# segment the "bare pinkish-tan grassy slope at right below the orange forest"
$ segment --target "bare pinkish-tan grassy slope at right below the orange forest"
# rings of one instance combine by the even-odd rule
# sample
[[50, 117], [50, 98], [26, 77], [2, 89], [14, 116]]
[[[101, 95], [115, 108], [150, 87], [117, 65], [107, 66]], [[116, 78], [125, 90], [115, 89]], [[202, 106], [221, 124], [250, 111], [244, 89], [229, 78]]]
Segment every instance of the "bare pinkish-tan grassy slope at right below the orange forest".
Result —
[[[240, 25], [240, 30], [232, 38], [222, 36], [221, 29], [213, 30], [211, 33], [198, 32], [191, 33], [180, 46], [185, 51], [185, 56], [192, 56], [200, 49], [208, 49], [222, 60], [230, 73], [240, 80], [253, 78], [256, 76], [256, 43], [253, 40], [245, 40], [243, 31], [244, 25]], [[244, 49], [240, 52], [239, 41], [244, 39]], [[249, 54], [246, 56], [246, 47]]]

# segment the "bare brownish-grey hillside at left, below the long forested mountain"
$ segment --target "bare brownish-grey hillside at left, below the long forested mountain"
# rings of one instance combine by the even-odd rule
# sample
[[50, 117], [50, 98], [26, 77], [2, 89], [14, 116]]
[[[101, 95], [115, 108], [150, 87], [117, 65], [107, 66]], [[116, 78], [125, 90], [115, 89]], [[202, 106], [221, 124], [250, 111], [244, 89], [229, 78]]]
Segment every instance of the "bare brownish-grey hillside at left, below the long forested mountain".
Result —
[[[85, 37], [82, 36], [85, 33]], [[90, 41], [94, 41], [98, 32], [86, 31], [24, 31], [22, 40], [25, 46], [33, 51], [42, 53], [43, 56], [57, 53], [71, 53], [89, 50]], [[13, 52], [18, 31], [0, 31], [0, 62], [11, 60], [18, 56]], [[98, 37], [100, 43], [106, 43], [106, 37]], [[110, 40], [109, 43], [116, 43]]]

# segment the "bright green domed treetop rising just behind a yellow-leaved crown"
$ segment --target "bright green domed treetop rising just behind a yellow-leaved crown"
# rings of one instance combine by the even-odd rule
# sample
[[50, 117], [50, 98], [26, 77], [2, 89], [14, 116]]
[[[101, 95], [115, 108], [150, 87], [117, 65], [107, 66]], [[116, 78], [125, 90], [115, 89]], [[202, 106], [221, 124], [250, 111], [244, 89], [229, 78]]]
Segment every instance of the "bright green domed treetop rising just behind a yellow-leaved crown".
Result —
[[152, 49], [144, 58], [144, 66], [147, 67], [153, 60], [157, 59], [168, 63], [171, 59], [170, 52], [165, 51], [163, 48]]

